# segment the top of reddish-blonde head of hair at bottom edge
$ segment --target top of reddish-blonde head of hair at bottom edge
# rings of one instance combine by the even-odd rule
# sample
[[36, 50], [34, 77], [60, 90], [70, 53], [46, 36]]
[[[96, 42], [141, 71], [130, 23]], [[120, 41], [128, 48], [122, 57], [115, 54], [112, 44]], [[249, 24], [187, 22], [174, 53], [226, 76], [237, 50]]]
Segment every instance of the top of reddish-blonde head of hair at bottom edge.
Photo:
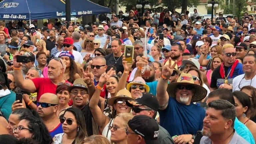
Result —
[[83, 143], [89, 144], [110, 144], [109, 140], [103, 135], [91, 135], [83, 140]]

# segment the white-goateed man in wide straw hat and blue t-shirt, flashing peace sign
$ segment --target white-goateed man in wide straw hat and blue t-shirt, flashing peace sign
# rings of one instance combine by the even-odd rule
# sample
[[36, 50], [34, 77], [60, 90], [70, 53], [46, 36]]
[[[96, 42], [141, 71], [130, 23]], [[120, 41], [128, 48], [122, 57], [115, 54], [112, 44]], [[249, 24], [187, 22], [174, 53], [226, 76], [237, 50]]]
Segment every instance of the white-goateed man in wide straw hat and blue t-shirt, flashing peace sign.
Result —
[[[170, 83], [168, 80], [173, 73], [177, 61], [171, 65], [165, 65], [162, 76], [157, 84], [156, 97], [159, 101], [160, 125], [164, 127], [173, 138], [175, 143], [188, 143], [193, 135], [203, 128], [205, 110], [193, 102], [205, 98], [207, 90], [200, 85], [194, 84], [191, 74], [181, 73], [177, 82]], [[167, 90], [167, 91], [166, 91]]]

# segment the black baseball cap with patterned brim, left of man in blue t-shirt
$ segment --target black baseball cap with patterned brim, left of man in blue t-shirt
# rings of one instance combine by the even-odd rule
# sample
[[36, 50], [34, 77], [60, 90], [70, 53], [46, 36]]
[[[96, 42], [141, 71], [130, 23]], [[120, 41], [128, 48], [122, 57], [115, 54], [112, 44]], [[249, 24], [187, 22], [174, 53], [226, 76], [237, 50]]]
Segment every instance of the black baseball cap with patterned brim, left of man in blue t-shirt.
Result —
[[135, 100], [129, 100], [127, 105], [129, 107], [145, 105], [155, 111], [158, 111], [159, 109], [159, 103], [156, 96], [148, 92], [143, 92], [142, 95], [137, 97]]

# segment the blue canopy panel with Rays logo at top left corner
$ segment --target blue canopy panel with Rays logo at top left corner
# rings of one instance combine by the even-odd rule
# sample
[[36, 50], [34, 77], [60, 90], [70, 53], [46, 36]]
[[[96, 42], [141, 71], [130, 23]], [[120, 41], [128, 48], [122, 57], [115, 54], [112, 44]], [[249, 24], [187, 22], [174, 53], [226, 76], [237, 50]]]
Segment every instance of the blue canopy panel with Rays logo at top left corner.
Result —
[[31, 20], [57, 17], [61, 9], [50, 0], [0, 0], [0, 19]]

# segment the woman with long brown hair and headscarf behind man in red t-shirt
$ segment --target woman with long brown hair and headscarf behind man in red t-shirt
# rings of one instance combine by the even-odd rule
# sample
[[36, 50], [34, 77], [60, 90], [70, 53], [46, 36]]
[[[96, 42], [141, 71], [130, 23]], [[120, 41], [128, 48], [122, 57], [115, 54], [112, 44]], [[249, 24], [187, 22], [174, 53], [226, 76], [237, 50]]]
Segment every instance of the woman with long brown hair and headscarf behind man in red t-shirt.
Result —
[[78, 70], [77, 65], [74, 61], [74, 55], [69, 51], [63, 51], [60, 53], [59, 58], [61, 58], [66, 64], [66, 69], [64, 72], [64, 79], [73, 83], [76, 79], [81, 78], [82, 73]]

